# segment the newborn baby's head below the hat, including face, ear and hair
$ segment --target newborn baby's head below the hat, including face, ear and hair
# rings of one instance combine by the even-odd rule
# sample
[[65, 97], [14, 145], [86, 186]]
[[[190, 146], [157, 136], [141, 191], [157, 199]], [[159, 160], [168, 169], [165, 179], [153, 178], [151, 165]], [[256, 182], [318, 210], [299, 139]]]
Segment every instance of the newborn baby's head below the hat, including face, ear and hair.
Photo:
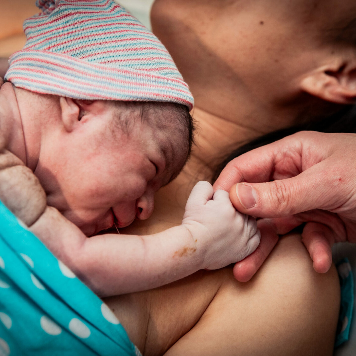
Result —
[[43, 122], [34, 172], [48, 204], [87, 235], [114, 222], [123, 227], [147, 219], [155, 192], [177, 176], [189, 155], [187, 106], [15, 92], [25, 136], [33, 117]]

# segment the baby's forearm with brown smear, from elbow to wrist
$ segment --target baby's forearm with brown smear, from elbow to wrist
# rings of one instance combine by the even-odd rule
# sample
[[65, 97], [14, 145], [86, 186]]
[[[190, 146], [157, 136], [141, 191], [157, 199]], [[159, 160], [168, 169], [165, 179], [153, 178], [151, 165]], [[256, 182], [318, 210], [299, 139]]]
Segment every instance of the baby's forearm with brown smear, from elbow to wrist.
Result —
[[156, 288], [196, 272], [201, 267], [195, 252], [194, 240], [180, 225], [155, 235], [90, 237], [80, 263], [91, 288], [109, 296]]

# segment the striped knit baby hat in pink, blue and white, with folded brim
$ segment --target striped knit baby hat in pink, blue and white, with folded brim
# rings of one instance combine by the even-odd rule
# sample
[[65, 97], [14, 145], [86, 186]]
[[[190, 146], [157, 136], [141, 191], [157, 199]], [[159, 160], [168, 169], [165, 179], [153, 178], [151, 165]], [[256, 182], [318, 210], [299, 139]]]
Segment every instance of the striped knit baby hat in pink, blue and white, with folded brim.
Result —
[[15, 87], [75, 99], [169, 101], [193, 97], [158, 38], [113, 0], [37, 0], [27, 42], [9, 60]]

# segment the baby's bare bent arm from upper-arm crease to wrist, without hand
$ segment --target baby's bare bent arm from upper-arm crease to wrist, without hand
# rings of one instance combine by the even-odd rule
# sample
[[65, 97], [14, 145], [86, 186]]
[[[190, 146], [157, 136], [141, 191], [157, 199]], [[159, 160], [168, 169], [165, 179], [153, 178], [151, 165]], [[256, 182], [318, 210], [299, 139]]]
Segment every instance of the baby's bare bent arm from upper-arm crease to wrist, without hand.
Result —
[[195, 240], [183, 225], [147, 236], [88, 238], [58, 210], [47, 208], [31, 231], [100, 296], [159, 287], [201, 268]]

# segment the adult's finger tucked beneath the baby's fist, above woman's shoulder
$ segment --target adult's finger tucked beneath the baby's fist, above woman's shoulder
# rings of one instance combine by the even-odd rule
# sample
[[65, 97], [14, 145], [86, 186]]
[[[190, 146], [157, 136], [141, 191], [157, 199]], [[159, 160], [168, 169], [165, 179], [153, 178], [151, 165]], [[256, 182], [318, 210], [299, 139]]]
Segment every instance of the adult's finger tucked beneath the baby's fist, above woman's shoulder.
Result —
[[260, 245], [251, 255], [235, 263], [233, 269], [234, 277], [239, 282], [247, 282], [253, 277], [278, 241], [278, 235], [268, 221], [257, 221], [257, 227], [261, 231]]

